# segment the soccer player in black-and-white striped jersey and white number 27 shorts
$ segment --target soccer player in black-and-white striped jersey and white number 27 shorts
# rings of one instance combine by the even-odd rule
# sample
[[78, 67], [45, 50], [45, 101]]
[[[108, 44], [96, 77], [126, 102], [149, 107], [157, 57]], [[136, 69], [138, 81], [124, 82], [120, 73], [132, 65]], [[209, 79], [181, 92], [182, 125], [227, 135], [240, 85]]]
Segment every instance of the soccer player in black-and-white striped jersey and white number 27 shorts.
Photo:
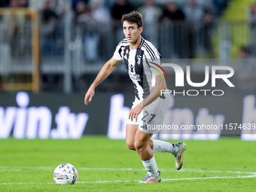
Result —
[[[116, 66], [123, 62], [135, 88], [135, 101], [126, 123], [126, 146], [137, 151], [142, 164], [148, 171], [140, 183], [154, 183], [161, 181], [161, 175], [154, 159], [154, 152], [169, 152], [175, 157], [176, 169], [181, 169], [183, 154], [187, 145], [184, 142], [172, 144], [157, 139], [151, 139], [157, 129], [152, 125], [163, 123], [163, 117], [169, 106], [170, 96], [160, 96], [161, 90], [166, 90], [166, 81], [161, 75], [156, 75], [155, 86], [152, 82], [151, 65], [160, 62], [160, 53], [151, 42], [142, 38], [142, 15], [133, 11], [122, 17], [123, 34], [114, 51], [114, 56], [105, 62], [93, 84], [84, 98], [85, 105], [89, 105], [95, 94], [95, 88]], [[153, 69], [154, 70], [154, 69]]]

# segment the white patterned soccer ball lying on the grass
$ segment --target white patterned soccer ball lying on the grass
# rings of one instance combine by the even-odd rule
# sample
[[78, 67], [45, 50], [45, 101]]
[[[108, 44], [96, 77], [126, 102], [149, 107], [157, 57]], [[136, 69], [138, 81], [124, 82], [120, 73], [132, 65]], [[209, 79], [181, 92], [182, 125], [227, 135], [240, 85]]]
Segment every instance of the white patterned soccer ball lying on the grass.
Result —
[[78, 171], [70, 163], [62, 163], [53, 172], [56, 184], [75, 184], [78, 179]]

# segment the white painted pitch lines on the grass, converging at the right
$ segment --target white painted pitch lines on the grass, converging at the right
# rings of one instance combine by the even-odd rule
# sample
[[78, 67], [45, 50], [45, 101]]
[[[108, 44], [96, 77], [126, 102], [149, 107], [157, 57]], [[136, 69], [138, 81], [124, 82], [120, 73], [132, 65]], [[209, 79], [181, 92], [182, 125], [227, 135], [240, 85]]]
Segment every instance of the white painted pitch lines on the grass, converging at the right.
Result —
[[[11, 166], [0, 166], [0, 169], [8, 169], [13, 168]], [[53, 169], [53, 167], [20, 167], [20, 169]], [[16, 171], [20, 171], [20, 169], [13, 169]], [[83, 170], [111, 170], [111, 171], [145, 171], [145, 169], [132, 169], [132, 168], [124, 168], [124, 169], [117, 169], [117, 168], [79, 168]], [[161, 170], [175, 170], [175, 169], [161, 169]], [[10, 170], [9, 170], [10, 171]], [[215, 179], [215, 178], [255, 178], [256, 172], [243, 172], [243, 171], [218, 171], [218, 170], [199, 170], [199, 169], [183, 169], [179, 172], [224, 172], [230, 174], [237, 174], [236, 176], [212, 176], [212, 177], [196, 177], [196, 178], [165, 178], [162, 181], [179, 181], [179, 180], [197, 180], [197, 179]], [[239, 175], [239, 174], [248, 174], [248, 175]], [[130, 181], [77, 181], [77, 183], [82, 184], [96, 184], [96, 183], [123, 183], [123, 182], [138, 182], [139, 180], [130, 180]], [[0, 185], [14, 185], [14, 184], [54, 184], [54, 182], [47, 182], [47, 183], [0, 183]]]

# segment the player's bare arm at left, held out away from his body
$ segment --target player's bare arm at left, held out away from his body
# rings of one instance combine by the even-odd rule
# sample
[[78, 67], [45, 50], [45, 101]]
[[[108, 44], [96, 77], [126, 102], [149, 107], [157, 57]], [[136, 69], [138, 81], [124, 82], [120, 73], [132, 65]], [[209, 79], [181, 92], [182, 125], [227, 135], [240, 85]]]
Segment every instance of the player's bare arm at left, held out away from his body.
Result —
[[108, 78], [108, 75], [113, 72], [114, 68], [120, 64], [120, 60], [114, 59], [112, 57], [111, 59], [108, 60], [108, 62], [105, 62], [104, 66], [100, 70], [99, 74], [93, 81], [93, 84], [91, 84], [89, 90], [87, 90], [87, 93], [85, 94], [84, 97], [84, 104], [89, 105], [89, 103], [92, 101], [94, 93], [95, 93], [95, 88], [105, 80], [105, 78]]

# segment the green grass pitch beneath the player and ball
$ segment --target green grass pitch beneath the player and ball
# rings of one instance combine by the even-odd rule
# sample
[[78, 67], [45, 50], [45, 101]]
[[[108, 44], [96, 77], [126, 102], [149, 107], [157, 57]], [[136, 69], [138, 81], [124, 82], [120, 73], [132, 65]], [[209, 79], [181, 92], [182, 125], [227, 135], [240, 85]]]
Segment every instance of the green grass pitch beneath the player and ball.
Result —
[[[256, 142], [221, 138], [186, 144], [180, 171], [171, 154], [155, 153], [163, 181], [138, 184], [146, 171], [124, 140], [0, 140], [0, 191], [256, 191]], [[53, 183], [60, 163], [78, 169], [77, 183]]]

